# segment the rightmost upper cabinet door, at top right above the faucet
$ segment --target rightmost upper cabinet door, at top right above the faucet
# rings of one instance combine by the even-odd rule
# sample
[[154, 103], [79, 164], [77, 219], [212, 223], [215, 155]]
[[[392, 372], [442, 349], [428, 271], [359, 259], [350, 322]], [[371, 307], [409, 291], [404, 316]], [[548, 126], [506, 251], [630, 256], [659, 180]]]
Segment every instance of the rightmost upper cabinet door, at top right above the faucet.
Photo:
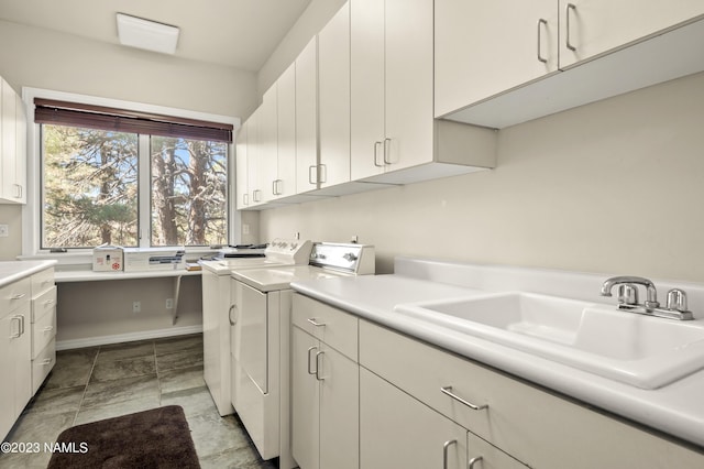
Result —
[[560, 67], [702, 14], [702, 0], [560, 0]]

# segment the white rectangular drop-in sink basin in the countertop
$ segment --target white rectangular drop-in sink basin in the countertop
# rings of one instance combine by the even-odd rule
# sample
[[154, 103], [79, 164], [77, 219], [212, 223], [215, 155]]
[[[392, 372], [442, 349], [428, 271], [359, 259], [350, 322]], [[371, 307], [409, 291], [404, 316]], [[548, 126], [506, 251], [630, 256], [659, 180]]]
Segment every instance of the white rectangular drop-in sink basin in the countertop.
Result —
[[531, 293], [396, 306], [396, 312], [605, 378], [656, 389], [704, 368], [704, 320], [679, 321]]

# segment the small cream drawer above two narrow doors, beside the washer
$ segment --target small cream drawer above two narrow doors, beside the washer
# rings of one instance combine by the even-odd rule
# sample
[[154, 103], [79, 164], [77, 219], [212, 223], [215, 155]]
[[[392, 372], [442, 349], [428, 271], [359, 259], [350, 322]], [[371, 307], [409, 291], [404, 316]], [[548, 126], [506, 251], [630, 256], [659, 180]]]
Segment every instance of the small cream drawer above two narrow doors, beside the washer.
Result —
[[356, 316], [296, 293], [292, 321], [294, 326], [358, 361]]

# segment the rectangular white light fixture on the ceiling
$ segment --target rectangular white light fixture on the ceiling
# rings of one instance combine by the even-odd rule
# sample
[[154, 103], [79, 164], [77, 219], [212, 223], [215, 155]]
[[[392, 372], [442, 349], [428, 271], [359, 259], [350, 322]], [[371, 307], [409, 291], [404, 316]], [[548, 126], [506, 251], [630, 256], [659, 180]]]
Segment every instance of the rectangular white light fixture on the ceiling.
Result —
[[176, 26], [118, 13], [118, 36], [122, 45], [174, 55], [178, 33]]

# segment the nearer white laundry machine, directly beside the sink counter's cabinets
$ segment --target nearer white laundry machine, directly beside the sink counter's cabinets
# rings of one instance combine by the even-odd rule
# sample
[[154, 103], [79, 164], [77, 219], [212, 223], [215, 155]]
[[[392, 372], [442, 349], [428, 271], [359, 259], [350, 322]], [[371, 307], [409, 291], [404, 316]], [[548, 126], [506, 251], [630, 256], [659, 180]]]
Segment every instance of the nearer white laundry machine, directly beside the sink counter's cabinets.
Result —
[[374, 273], [374, 248], [314, 243], [309, 265], [232, 272], [232, 405], [263, 459], [296, 467], [290, 455], [290, 283]]

